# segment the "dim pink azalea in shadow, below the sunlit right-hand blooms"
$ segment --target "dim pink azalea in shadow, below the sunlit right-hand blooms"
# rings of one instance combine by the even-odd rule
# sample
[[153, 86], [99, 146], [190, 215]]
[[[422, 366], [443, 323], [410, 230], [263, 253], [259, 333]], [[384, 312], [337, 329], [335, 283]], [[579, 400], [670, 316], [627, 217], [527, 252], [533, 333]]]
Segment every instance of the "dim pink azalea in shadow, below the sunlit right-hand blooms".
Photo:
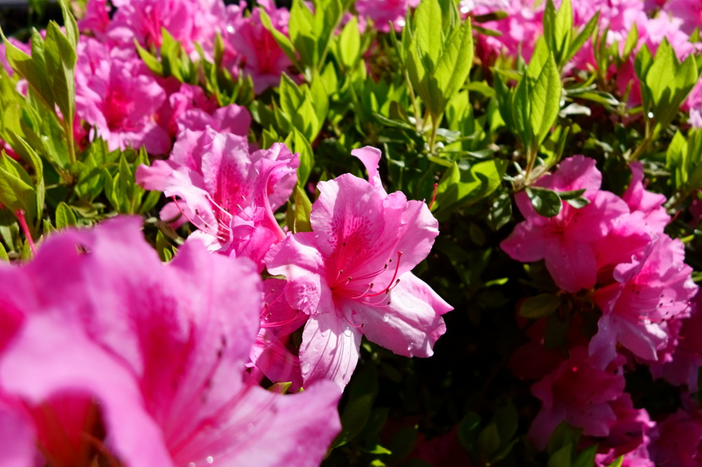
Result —
[[[616, 368], [613, 365], [612, 368]], [[588, 436], [607, 436], [616, 422], [613, 404], [624, 391], [624, 377], [592, 365], [584, 347], [572, 348], [570, 358], [531, 386], [543, 404], [529, 429], [529, 440], [544, 449], [553, 430], [567, 421]]]

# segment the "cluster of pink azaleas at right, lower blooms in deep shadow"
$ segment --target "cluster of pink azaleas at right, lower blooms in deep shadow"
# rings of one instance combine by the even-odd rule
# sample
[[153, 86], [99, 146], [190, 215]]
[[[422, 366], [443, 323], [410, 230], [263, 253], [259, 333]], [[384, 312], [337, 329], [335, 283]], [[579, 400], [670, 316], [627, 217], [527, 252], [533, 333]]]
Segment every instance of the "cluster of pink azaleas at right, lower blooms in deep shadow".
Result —
[[[645, 410], [633, 408], [624, 392], [628, 362], [649, 365], [655, 376], [687, 384], [690, 391], [697, 388], [702, 348], [684, 336], [694, 332], [699, 320], [691, 305], [698, 287], [684, 264], [682, 242], [663, 232], [670, 222], [662, 207], [665, 196], [644, 189], [640, 163], [630, 168], [631, 182], [620, 197], [600, 189], [602, 174], [594, 160], [564, 159], [535, 186], [584, 189], [588, 205], [575, 208], [564, 201], [558, 215], [541, 217], [520, 192], [517, 205], [524, 221], [501, 244], [518, 261], [543, 259], [560, 294], [576, 309], [566, 338], [568, 358], [543, 348], [541, 325], [532, 328], [531, 342], [512, 365], [520, 376], [540, 380], [532, 392], [543, 408], [530, 437], [541, 448], [553, 429], [567, 421], [585, 435], [604, 438], [600, 447], [611, 452], [605, 449], [603, 459], [644, 455], [655, 424]], [[597, 332], [586, 336], [580, 328], [592, 313], [598, 316]], [[529, 365], [529, 356], [539, 356], [538, 365]], [[628, 435], [622, 437], [620, 431]], [[631, 433], [637, 433], [635, 440]]]

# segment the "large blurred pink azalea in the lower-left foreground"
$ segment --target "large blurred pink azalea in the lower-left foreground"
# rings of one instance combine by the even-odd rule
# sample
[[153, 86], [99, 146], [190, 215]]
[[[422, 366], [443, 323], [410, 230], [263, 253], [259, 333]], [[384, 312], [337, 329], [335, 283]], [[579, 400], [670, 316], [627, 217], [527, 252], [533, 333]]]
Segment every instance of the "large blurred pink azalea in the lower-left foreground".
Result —
[[261, 306], [250, 262], [188, 243], [161, 264], [123, 218], [56, 234], [0, 278], [15, 286], [0, 316], [23, 315], [0, 352], [0, 431], [14, 419], [39, 448], [0, 448], [4, 466], [314, 466], [340, 428], [333, 384], [279, 395], [244, 379]]

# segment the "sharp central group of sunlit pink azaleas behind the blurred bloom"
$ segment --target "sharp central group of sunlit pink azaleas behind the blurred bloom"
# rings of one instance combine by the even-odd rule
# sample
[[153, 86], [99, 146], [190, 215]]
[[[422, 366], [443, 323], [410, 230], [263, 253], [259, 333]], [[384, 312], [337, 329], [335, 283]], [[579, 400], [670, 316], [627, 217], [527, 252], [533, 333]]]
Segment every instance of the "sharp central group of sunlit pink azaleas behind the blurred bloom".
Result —
[[[331, 379], [344, 388], [362, 335], [400, 355], [430, 356], [451, 306], [410, 272], [439, 233], [425, 203], [387, 194], [380, 151], [366, 147], [353, 154], [370, 181], [346, 174], [320, 182], [312, 231], [286, 233], [273, 213], [295, 187], [298, 155], [284, 144], [250, 152], [246, 137], [232, 133], [246, 134], [246, 110], [220, 111], [234, 124], [200, 115], [199, 124], [182, 128], [171, 157], [140, 167], [137, 181], [173, 197], [161, 217], [180, 210], [199, 229], [188, 242], [285, 276], [267, 283], [251, 366], [273, 381], [307, 387]], [[303, 324], [293, 356], [285, 338]]]

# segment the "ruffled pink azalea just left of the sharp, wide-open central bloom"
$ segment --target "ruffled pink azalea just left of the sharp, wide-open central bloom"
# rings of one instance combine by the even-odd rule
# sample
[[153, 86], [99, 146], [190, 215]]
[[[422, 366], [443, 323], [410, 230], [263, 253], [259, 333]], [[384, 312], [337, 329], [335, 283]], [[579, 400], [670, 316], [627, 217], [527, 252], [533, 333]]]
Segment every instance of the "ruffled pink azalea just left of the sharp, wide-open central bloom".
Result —
[[137, 170], [138, 183], [183, 200], [183, 215], [199, 229], [191, 237], [209, 250], [249, 257], [263, 269], [265, 253], [285, 237], [273, 212], [292, 193], [298, 156], [279, 143], [250, 154], [245, 137], [210, 127], [192, 134], [197, 147], [176, 144], [171, 160]]

